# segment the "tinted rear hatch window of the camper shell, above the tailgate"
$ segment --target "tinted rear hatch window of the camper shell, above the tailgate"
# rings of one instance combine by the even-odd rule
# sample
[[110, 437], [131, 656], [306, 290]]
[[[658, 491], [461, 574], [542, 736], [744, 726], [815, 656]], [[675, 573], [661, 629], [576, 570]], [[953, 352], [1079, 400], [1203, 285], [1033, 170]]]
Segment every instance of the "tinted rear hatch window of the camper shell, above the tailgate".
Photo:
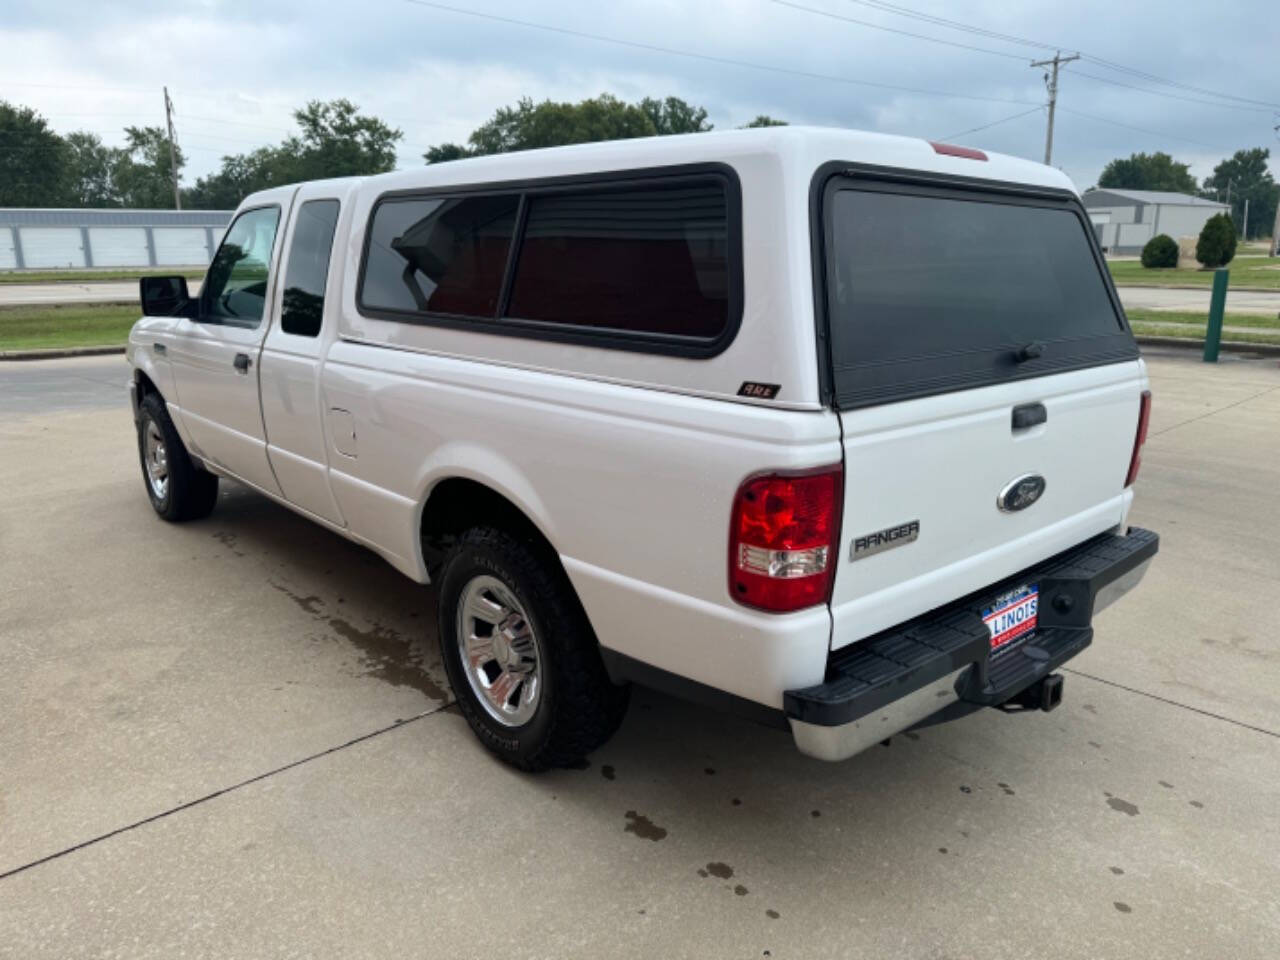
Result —
[[826, 215], [841, 407], [1138, 356], [1066, 201], [886, 184], [832, 191]]

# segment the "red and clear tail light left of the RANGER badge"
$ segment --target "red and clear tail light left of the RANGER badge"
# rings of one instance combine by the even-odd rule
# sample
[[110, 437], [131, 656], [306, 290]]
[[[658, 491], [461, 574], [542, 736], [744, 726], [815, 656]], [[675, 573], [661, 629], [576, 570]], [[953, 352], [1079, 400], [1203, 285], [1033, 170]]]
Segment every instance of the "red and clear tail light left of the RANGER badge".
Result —
[[827, 603], [840, 543], [840, 465], [749, 477], [733, 498], [728, 590], [785, 613]]

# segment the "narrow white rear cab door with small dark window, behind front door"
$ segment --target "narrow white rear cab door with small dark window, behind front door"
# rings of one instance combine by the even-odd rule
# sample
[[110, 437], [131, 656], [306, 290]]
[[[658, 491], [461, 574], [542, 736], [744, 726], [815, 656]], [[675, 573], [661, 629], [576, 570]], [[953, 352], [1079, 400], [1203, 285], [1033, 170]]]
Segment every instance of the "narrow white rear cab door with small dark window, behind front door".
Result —
[[266, 335], [259, 372], [268, 458], [284, 498], [332, 524], [343, 517], [329, 490], [320, 364], [340, 302], [342, 248], [334, 250], [334, 233], [347, 193], [340, 184], [312, 183], [294, 197], [275, 292], [279, 321]]

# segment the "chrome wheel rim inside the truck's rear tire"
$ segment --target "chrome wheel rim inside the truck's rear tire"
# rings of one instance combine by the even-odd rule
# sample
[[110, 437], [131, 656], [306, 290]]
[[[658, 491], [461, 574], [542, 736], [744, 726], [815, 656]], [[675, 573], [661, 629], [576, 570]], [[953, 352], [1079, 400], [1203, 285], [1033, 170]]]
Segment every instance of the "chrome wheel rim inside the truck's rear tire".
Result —
[[541, 659], [532, 625], [497, 577], [472, 577], [458, 596], [458, 655], [471, 690], [504, 727], [527, 723], [541, 694]]

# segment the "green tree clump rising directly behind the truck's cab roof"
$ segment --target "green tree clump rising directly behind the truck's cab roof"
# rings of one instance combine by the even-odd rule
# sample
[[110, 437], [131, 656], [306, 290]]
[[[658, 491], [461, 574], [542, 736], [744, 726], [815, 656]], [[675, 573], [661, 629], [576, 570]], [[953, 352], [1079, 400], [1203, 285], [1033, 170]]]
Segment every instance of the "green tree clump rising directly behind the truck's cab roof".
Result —
[[223, 157], [216, 173], [201, 177], [184, 202], [227, 210], [250, 193], [298, 180], [365, 177], [396, 166], [396, 145], [404, 136], [376, 116], [362, 115], [349, 100], [310, 101], [296, 110], [298, 133], [278, 146]]

